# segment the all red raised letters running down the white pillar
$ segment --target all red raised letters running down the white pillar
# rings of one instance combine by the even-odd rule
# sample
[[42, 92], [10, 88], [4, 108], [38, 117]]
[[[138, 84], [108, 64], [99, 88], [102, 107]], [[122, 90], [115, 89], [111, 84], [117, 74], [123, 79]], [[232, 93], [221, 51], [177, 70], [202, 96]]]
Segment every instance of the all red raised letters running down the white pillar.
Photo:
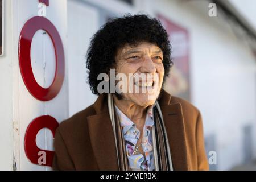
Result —
[[[49, 6], [48, 0], [39, 0], [39, 2]], [[40, 86], [38, 82], [36, 82], [32, 72], [30, 50], [32, 39], [38, 30], [44, 30], [47, 32], [55, 49], [55, 77], [49, 88], [43, 88]], [[27, 22], [24, 24], [24, 27], [22, 28], [22, 31], [20, 32], [19, 66], [24, 84], [32, 96], [40, 101], [49, 101], [57, 96], [57, 94], [60, 92], [64, 80], [64, 58], [63, 43], [61, 42], [59, 32], [55, 26], [43, 16], [35, 16], [27, 20]], [[36, 144], [36, 135], [38, 134], [39, 130], [48, 128], [52, 131], [54, 137], [55, 130], [58, 125], [59, 123], [56, 121], [56, 119], [49, 115], [42, 115], [34, 119], [30, 125], [28, 125], [24, 138], [24, 150], [26, 152], [27, 158], [32, 163], [43, 166], [52, 166], [54, 152], [38, 148]]]

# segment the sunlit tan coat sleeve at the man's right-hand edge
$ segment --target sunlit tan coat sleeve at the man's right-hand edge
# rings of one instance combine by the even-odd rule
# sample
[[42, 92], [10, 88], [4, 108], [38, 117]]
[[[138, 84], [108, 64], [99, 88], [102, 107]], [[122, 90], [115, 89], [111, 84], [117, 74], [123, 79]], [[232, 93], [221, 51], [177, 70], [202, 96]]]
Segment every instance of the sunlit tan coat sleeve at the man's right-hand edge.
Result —
[[202, 170], [209, 170], [208, 159], [205, 154], [204, 148], [204, 132], [203, 132], [203, 122], [201, 113], [197, 116], [196, 122], [196, 147], [197, 147], [197, 169]]

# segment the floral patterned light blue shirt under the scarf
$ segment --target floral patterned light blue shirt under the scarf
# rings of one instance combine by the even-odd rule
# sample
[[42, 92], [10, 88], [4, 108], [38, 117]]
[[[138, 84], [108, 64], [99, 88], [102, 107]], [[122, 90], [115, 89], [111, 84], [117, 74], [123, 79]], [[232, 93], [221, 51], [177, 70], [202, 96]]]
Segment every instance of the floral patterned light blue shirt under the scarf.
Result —
[[[121, 110], [115, 106], [119, 122], [122, 127], [123, 137], [126, 144], [126, 154], [129, 161], [129, 167], [131, 170], [142, 170], [142, 171], [152, 171], [155, 169], [154, 163], [154, 153], [153, 153], [153, 144], [152, 144], [152, 132], [151, 128], [154, 125], [154, 119], [152, 114], [153, 106], [149, 106], [146, 114], [146, 121], [143, 128], [143, 138], [142, 138], [142, 149], [144, 155], [134, 154], [135, 146], [138, 142], [140, 132], [137, 129], [131, 119], [129, 119]], [[146, 158], [145, 158], [145, 157]]]

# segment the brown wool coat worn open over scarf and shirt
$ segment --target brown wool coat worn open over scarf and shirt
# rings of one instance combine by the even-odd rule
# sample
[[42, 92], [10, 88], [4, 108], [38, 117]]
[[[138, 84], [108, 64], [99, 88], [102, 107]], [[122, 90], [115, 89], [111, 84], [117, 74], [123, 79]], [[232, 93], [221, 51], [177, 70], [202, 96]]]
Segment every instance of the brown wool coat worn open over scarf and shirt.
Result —
[[[164, 90], [159, 98], [174, 170], [208, 170], [199, 110]], [[60, 123], [54, 147], [55, 170], [118, 170], [106, 94]]]

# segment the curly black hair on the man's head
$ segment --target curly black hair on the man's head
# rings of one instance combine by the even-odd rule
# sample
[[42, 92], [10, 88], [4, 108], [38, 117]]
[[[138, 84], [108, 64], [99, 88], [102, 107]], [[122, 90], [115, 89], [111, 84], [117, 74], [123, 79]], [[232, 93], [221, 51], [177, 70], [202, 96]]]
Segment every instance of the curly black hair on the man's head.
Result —
[[115, 67], [115, 55], [119, 48], [126, 44], [136, 45], [140, 42], [156, 44], [163, 51], [164, 80], [172, 67], [171, 44], [166, 30], [160, 20], [148, 15], [124, 15], [122, 18], [112, 18], [93, 35], [86, 55], [88, 68], [88, 83], [94, 94], [99, 94], [97, 80], [100, 73], [109, 74]]

